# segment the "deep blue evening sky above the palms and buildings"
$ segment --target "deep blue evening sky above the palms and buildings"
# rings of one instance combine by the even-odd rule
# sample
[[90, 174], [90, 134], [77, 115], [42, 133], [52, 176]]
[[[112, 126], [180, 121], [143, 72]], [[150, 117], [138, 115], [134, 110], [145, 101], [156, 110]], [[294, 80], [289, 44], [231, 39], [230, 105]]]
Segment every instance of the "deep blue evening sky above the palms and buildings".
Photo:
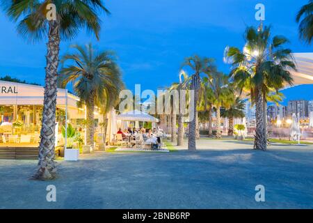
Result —
[[[99, 49], [113, 49], [118, 54], [123, 78], [129, 89], [155, 90], [177, 82], [184, 57], [193, 54], [216, 59], [223, 72], [227, 45], [243, 47], [243, 31], [257, 25], [255, 5], [264, 3], [265, 24], [273, 34], [289, 38], [294, 52], [313, 52], [313, 46], [298, 40], [295, 15], [307, 0], [111, 0], [104, 1], [112, 15], [102, 16], [100, 40], [81, 31], [77, 38], [63, 42], [61, 55], [73, 43], [93, 42]], [[15, 31], [3, 12], [0, 13], [0, 75], [11, 75], [28, 82], [44, 84], [47, 40], [27, 43]], [[313, 86], [284, 91], [290, 99], [313, 99]]]

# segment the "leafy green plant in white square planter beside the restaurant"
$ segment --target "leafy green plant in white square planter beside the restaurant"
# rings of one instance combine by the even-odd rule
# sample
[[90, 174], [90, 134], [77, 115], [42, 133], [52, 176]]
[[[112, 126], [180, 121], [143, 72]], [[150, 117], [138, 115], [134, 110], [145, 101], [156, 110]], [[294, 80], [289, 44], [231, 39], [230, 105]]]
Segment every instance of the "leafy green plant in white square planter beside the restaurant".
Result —
[[[67, 125], [66, 147], [64, 151], [64, 160], [77, 161], [79, 159], [79, 148], [74, 148], [74, 142], [77, 137], [77, 130], [69, 123]], [[65, 127], [62, 126], [62, 136], [65, 138]]]

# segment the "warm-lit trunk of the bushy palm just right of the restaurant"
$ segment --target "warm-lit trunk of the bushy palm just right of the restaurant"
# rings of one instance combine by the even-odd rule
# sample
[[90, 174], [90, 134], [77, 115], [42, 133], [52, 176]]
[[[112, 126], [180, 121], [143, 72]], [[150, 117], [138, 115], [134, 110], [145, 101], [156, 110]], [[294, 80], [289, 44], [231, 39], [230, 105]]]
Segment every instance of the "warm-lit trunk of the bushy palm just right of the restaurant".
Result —
[[87, 107], [87, 120], [86, 120], [86, 145], [94, 146], [94, 135], [95, 135], [95, 99], [93, 96], [90, 97]]

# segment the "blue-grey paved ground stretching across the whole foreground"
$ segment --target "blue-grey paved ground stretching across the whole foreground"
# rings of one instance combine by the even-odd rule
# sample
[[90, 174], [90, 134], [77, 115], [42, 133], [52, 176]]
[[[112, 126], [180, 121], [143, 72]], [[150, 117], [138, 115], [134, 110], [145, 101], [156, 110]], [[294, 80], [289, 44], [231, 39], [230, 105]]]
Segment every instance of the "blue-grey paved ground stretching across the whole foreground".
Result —
[[[201, 139], [199, 151], [103, 153], [59, 162], [58, 178], [28, 180], [36, 161], [0, 160], [0, 208], [313, 208], [313, 146]], [[56, 202], [47, 202], [47, 185]], [[255, 201], [264, 185], [266, 202]]]

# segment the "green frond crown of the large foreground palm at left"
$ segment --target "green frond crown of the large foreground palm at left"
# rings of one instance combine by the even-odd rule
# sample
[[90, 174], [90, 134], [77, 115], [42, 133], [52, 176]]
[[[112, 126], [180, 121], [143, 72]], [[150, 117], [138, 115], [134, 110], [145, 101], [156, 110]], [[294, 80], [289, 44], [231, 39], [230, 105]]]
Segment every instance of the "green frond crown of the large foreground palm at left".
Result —
[[47, 5], [49, 3], [54, 3], [56, 6], [56, 22], [60, 28], [61, 38], [72, 39], [81, 28], [86, 27], [99, 39], [101, 20], [98, 14], [101, 11], [109, 14], [109, 10], [104, 7], [101, 0], [3, 0], [1, 6], [10, 18], [18, 22], [18, 33], [35, 41], [45, 38], [48, 34]]

